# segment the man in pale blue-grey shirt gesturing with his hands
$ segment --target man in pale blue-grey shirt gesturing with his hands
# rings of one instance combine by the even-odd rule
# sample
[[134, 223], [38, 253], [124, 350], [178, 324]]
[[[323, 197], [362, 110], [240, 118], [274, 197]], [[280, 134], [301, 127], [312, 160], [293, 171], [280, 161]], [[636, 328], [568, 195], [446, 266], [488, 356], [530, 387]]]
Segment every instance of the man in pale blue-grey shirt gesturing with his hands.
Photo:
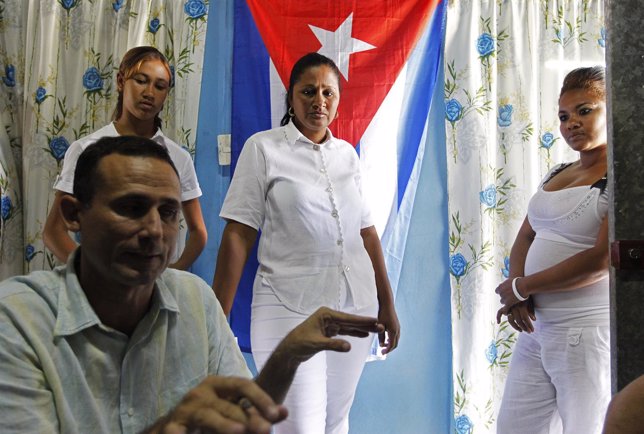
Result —
[[209, 285], [167, 269], [179, 231], [179, 178], [138, 137], [83, 152], [61, 215], [82, 247], [65, 266], [0, 283], [0, 431], [265, 432], [297, 366], [375, 318], [314, 313], [255, 381]]

